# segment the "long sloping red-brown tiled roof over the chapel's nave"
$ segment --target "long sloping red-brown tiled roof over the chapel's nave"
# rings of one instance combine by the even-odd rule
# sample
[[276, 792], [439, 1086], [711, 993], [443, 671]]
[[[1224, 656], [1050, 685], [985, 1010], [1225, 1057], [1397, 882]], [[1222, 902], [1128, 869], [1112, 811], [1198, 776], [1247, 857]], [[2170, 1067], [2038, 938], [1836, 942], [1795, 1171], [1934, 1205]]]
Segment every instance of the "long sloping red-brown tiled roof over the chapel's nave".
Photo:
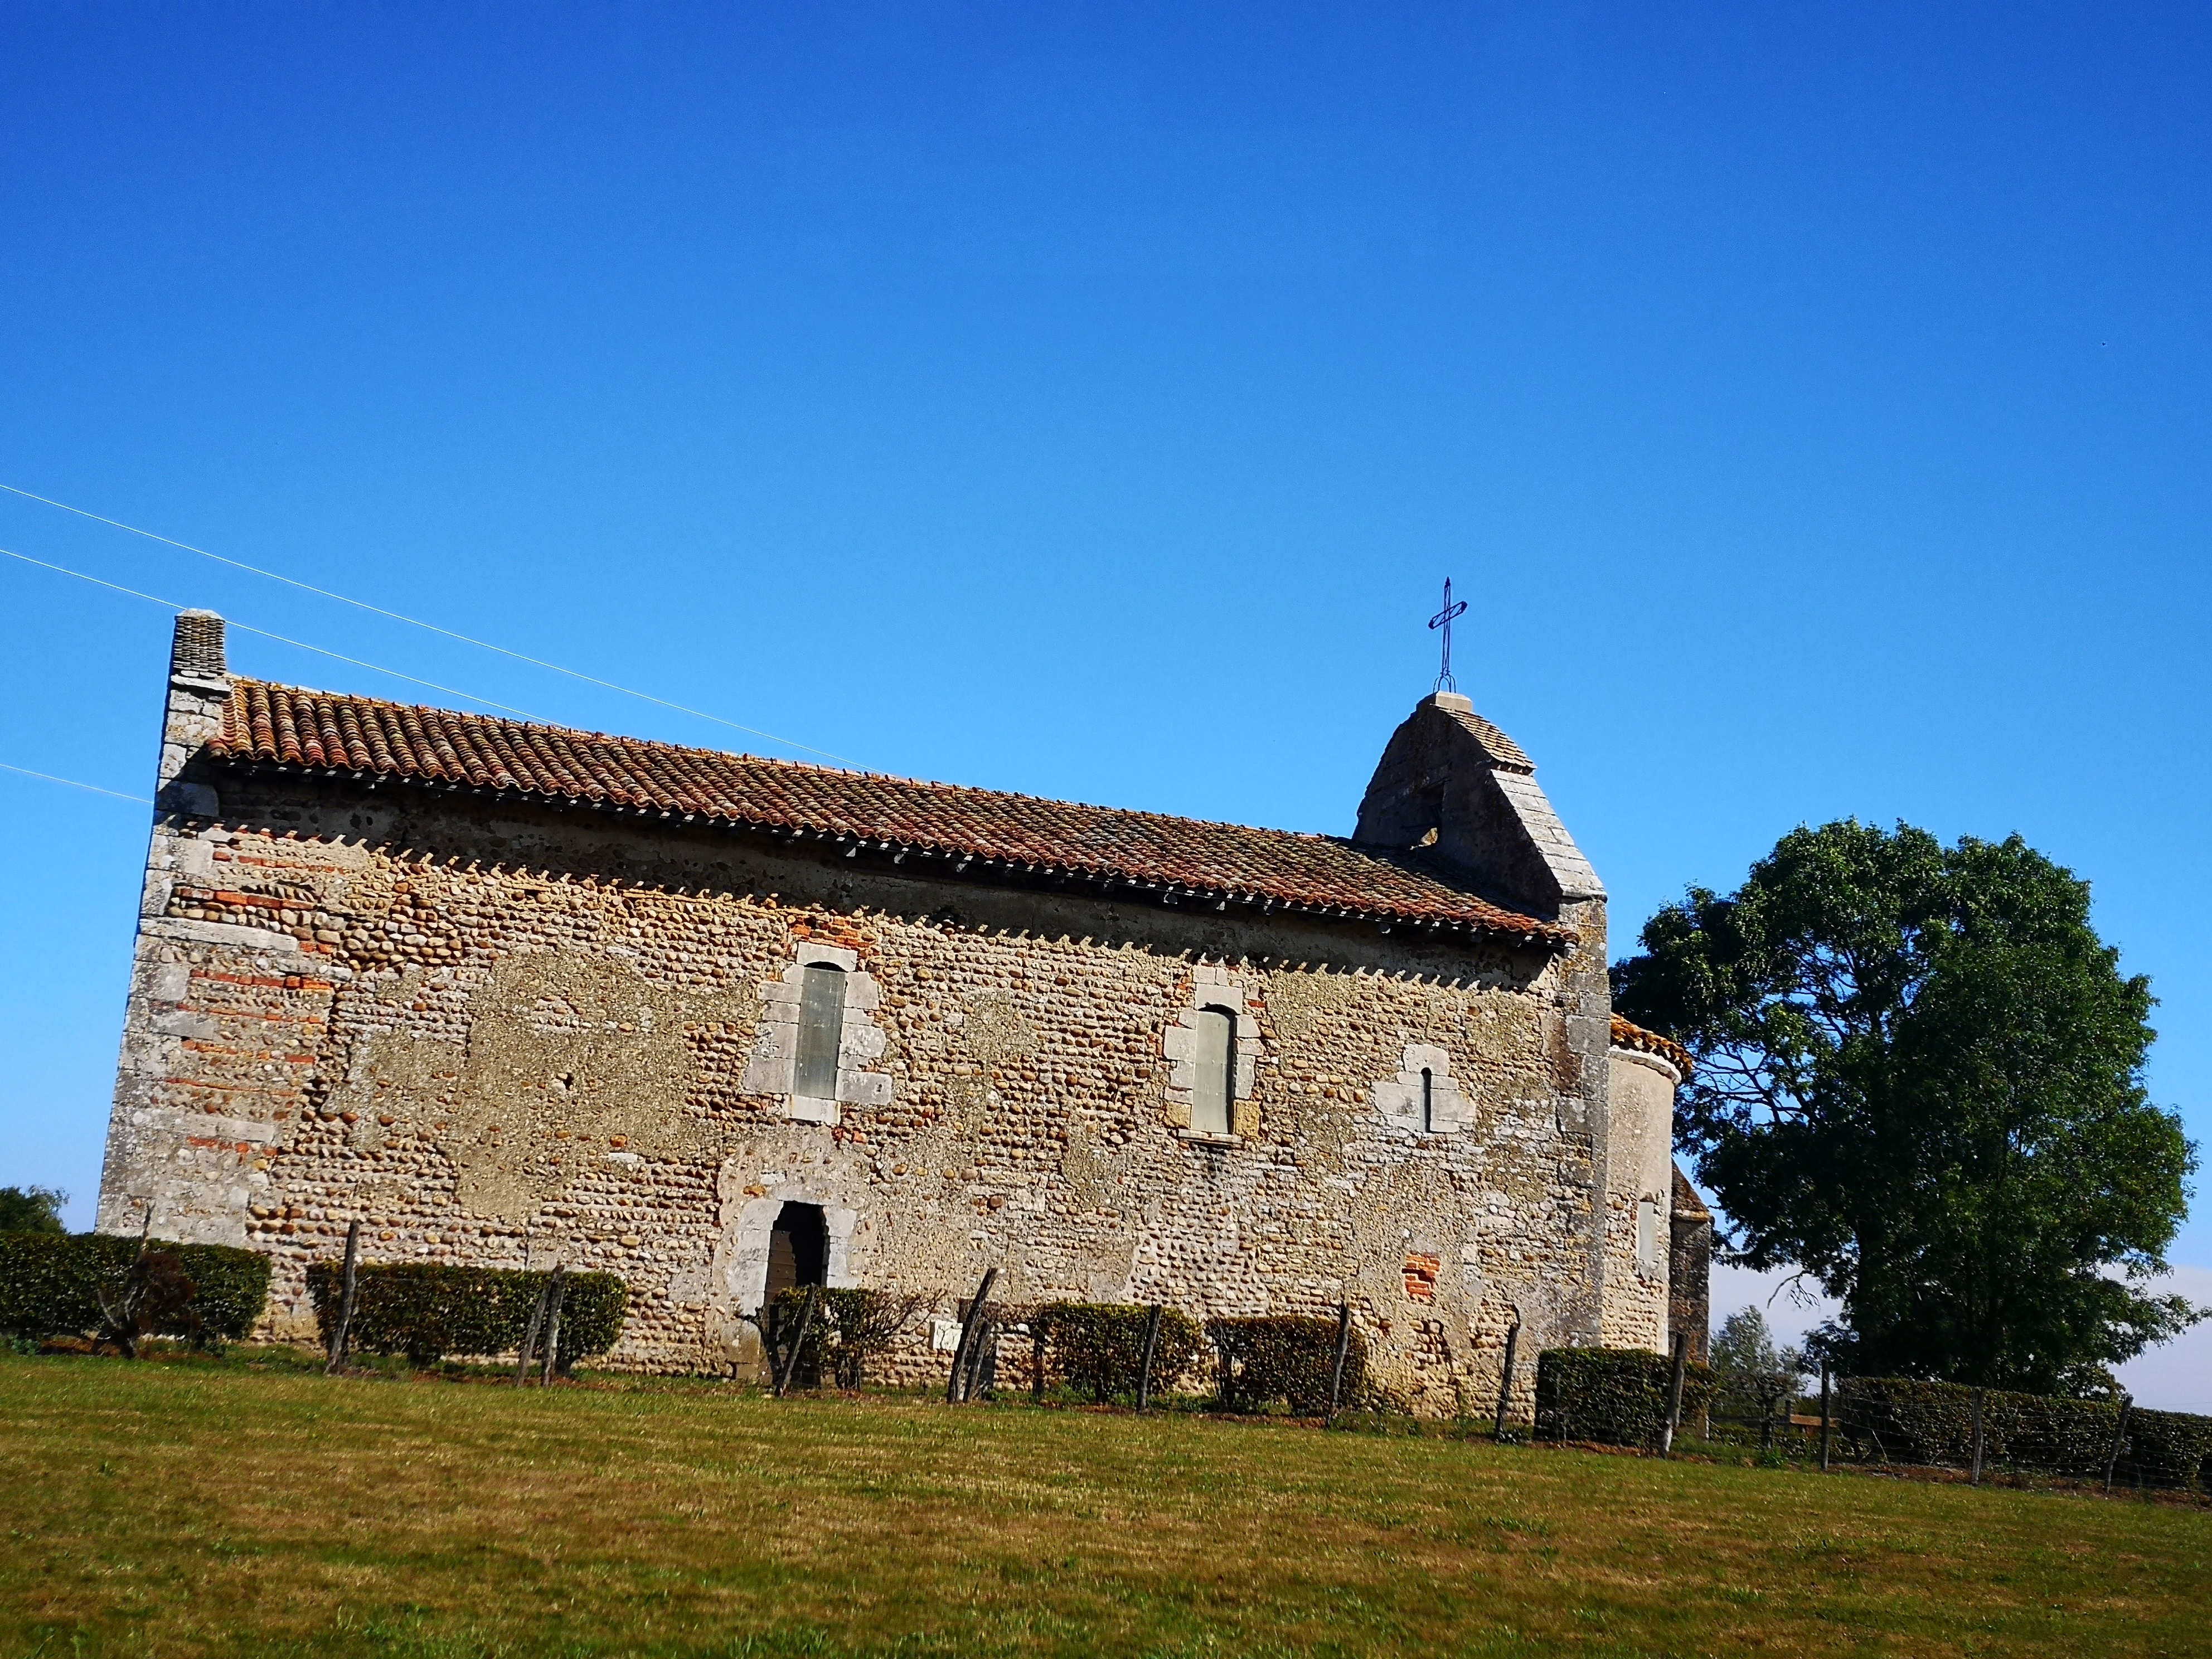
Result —
[[1575, 931], [1517, 916], [1427, 869], [1334, 836], [1245, 830], [1157, 812], [918, 783], [799, 761], [646, 743], [234, 679], [210, 752], [557, 801], [637, 807], [880, 847], [989, 860], [1035, 874], [1130, 883], [1159, 896], [1449, 925], [1566, 947]]

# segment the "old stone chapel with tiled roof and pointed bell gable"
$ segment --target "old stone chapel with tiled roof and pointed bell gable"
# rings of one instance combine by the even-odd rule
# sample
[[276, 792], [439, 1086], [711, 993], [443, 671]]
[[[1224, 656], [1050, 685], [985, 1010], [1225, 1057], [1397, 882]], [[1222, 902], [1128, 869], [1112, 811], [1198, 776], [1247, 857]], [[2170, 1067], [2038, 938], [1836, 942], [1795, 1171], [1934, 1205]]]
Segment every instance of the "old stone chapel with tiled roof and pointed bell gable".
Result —
[[613, 1272], [644, 1371], [757, 1365], [787, 1283], [1343, 1301], [1449, 1413], [1515, 1323], [1703, 1354], [1688, 1064], [1451, 692], [1338, 838], [276, 686], [186, 613], [100, 1228], [265, 1250], [272, 1336], [354, 1219]]

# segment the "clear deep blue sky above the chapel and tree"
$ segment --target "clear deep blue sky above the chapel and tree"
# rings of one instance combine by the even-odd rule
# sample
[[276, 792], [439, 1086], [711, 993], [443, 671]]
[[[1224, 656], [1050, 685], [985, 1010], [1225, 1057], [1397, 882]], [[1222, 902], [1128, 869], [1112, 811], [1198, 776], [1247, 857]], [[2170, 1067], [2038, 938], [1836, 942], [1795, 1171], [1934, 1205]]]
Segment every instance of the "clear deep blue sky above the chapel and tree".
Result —
[[[15, 7], [0, 482], [869, 768], [1329, 832], [1451, 575], [1617, 951], [1796, 823], [2017, 830], [2212, 1139], [2208, 60], [2181, 7]], [[0, 761], [142, 792], [166, 613], [0, 566]], [[0, 1181], [82, 1219], [144, 816], [0, 805]]]

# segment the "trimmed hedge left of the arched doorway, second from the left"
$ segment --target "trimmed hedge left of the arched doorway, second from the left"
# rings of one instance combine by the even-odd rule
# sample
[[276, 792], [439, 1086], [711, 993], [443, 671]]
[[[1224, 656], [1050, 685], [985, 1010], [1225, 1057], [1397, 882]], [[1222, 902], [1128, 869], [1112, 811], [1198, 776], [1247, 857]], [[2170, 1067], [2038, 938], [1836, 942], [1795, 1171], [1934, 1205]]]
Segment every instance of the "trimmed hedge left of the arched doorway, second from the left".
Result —
[[[453, 1267], [438, 1261], [396, 1261], [358, 1267], [354, 1323], [347, 1345], [365, 1354], [405, 1354], [409, 1365], [436, 1365], [447, 1354], [513, 1354], [531, 1325], [538, 1292], [551, 1272], [513, 1267]], [[630, 1287], [615, 1274], [562, 1274], [560, 1352], [566, 1371], [588, 1354], [604, 1354], [622, 1336]], [[343, 1267], [307, 1267], [314, 1323], [330, 1347], [343, 1296]]]

